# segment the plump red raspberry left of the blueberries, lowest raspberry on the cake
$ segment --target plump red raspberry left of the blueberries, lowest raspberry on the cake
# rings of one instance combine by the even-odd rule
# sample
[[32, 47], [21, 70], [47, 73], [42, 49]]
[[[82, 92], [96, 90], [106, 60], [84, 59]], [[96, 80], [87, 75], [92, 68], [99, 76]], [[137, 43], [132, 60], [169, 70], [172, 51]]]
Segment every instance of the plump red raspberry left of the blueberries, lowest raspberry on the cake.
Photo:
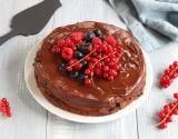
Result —
[[63, 48], [61, 56], [65, 60], [70, 60], [73, 57], [73, 50], [71, 48]]

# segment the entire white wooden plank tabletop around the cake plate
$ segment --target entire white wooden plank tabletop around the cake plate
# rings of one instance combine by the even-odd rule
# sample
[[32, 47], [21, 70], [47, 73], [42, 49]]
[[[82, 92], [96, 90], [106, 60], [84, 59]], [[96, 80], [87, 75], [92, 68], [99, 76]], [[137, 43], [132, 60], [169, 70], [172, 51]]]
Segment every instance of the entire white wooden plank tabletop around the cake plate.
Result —
[[[17, 12], [42, 0], [0, 0], [0, 36], [9, 31]], [[23, 79], [29, 49], [58, 26], [83, 20], [98, 20], [121, 26], [115, 11], [102, 0], [62, 0], [62, 7], [37, 36], [16, 37], [0, 48], [0, 98], [7, 97], [13, 116], [0, 116], [0, 139], [178, 139], [178, 119], [166, 130], [155, 128], [155, 116], [178, 91], [178, 80], [170, 88], [158, 88], [159, 76], [178, 60], [178, 43], [149, 53], [154, 68], [154, 86], [149, 99], [132, 113], [108, 123], [82, 125], [58, 118], [38, 105]]]

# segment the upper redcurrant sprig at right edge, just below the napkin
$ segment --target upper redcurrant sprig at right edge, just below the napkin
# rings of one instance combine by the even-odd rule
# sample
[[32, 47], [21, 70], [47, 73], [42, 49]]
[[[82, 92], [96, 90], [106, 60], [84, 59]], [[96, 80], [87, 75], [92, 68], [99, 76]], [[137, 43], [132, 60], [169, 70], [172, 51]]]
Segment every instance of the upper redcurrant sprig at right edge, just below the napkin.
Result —
[[164, 88], [170, 86], [170, 83], [178, 77], [178, 61], [175, 61], [165, 70], [164, 75], [160, 78], [160, 85]]

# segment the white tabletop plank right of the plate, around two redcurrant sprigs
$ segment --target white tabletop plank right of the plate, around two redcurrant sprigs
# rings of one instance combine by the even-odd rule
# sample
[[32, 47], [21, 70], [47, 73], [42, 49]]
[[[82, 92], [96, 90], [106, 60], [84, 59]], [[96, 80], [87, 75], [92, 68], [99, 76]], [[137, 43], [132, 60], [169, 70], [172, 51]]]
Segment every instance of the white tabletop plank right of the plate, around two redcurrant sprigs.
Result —
[[178, 92], [178, 80], [167, 89], [160, 89], [159, 79], [165, 68], [172, 61], [178, 60], [178, 43], [167, 46], [160, 50], [149, 53], [154, 69], [154, 85], [149, 93], [149, 99], [138, 109], [139, 139], [177, 139], [178, 119], [174, 117], [174, 122], [169, 123], [166, 130], [155, 127], [157, 123], [157, 112], [164, 105], [172, 101], [172, 93]]

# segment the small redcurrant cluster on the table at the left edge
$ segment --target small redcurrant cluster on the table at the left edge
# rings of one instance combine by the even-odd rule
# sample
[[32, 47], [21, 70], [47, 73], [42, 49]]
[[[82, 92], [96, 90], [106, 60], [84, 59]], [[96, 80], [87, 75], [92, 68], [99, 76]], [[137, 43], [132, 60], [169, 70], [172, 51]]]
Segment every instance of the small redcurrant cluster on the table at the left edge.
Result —
[[6, 98], [0, 100], [0, 112], [2, 112], [4, 117], [11, 117], [11, 109]]

